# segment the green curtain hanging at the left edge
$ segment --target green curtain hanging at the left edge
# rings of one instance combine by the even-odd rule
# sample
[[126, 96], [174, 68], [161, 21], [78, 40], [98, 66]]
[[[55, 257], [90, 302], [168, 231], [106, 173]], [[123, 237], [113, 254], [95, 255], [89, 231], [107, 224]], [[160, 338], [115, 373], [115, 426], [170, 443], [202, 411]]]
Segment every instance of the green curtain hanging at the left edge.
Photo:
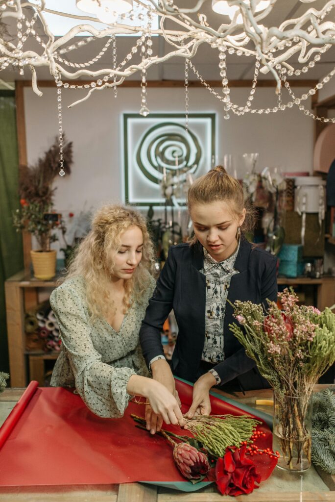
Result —
[[5, 281], [23, 269], [22, 235], [13, 227], [19, 207], [19, 158], [14, 91], [0, 90], [0, 371], [9, 371]]

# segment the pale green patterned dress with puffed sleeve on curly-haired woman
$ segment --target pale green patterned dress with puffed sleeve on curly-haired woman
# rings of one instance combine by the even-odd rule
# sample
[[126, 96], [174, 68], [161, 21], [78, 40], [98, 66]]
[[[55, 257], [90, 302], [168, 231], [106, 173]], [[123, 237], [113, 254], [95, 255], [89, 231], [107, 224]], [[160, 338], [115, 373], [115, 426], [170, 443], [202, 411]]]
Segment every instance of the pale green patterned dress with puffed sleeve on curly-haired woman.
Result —
[[139, 329], [155, 287], [151, 279], [142, 304], [132, 304], [118, 332], [103, 317], [90, 320], [82, 277], [65, 281], [50, 296], [62, 339], [51, 385], [76, 387], [87, 407], [100, 417], [122, 417], [131, 398], [126, 391], [130, 376], [149, 376]]

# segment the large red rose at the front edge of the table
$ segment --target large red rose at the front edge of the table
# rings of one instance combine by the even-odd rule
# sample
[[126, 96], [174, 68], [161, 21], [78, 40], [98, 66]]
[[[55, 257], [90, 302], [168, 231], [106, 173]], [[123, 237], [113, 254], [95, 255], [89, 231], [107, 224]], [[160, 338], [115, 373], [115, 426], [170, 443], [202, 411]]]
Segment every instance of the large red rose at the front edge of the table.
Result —
[[215, 466], [216, 484], [223, 495], [242, 495], [258, 488], [255, 483], [261, 482], [261, 476], [250, 458], [245, 457], [246, 446], [240, 450], [228, 450], [223, 458], [219, 458]]

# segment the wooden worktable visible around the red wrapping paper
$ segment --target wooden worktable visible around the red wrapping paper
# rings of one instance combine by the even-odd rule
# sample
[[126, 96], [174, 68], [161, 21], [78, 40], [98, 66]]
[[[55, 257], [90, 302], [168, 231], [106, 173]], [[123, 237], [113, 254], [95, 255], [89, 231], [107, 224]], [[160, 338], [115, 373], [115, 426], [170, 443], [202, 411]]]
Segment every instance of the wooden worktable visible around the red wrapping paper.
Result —
[[[327, 385], [315, 386], [319, 391]], [[9, 415], [23, 393], [23, 389], [6, 389], [0, 395], [0, 425]], [[256, 410], [271, 414], [272, 408], [255, 405], [255, 399], [272, 399], [271, 390], [249, 391], [243, 396], [220, 392], [220, 394], [248, 404]], [[1, 451], [0, 451], [1, 454]], [[52, 468], [52, 466], [50, 466]], [[55, 473], [57, 479], [57, 472]], [[120, 485], [32, 486], [0, 487], [0, 500], [4, 502], [335, 502], [335, 476], [330, 476], [312, 466], [307, 472], [292, 473], [276, 468], [261, 487], [249, 495], [223, 498], [211, 485], [200, 491], [186, 493], [168, 488], [139, 483]]]

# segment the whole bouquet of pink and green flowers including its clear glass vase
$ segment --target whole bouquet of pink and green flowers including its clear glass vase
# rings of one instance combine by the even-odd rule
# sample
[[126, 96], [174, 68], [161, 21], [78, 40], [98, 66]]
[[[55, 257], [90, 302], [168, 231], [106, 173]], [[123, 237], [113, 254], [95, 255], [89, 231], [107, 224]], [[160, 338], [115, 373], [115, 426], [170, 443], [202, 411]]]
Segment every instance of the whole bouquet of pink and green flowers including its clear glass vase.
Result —
[[[274, 437], [279, 438], [282, 466], [310, 465], [310, 406], [313, 386], [335, 361], [335, 315], [326, 308], [298, 306], [294, 291], [278, 295], [283, 310], [236, 301], [239, 322], [230, 328], [275, 391]], [[242, 326], [242, 328], [241, 328]]]

